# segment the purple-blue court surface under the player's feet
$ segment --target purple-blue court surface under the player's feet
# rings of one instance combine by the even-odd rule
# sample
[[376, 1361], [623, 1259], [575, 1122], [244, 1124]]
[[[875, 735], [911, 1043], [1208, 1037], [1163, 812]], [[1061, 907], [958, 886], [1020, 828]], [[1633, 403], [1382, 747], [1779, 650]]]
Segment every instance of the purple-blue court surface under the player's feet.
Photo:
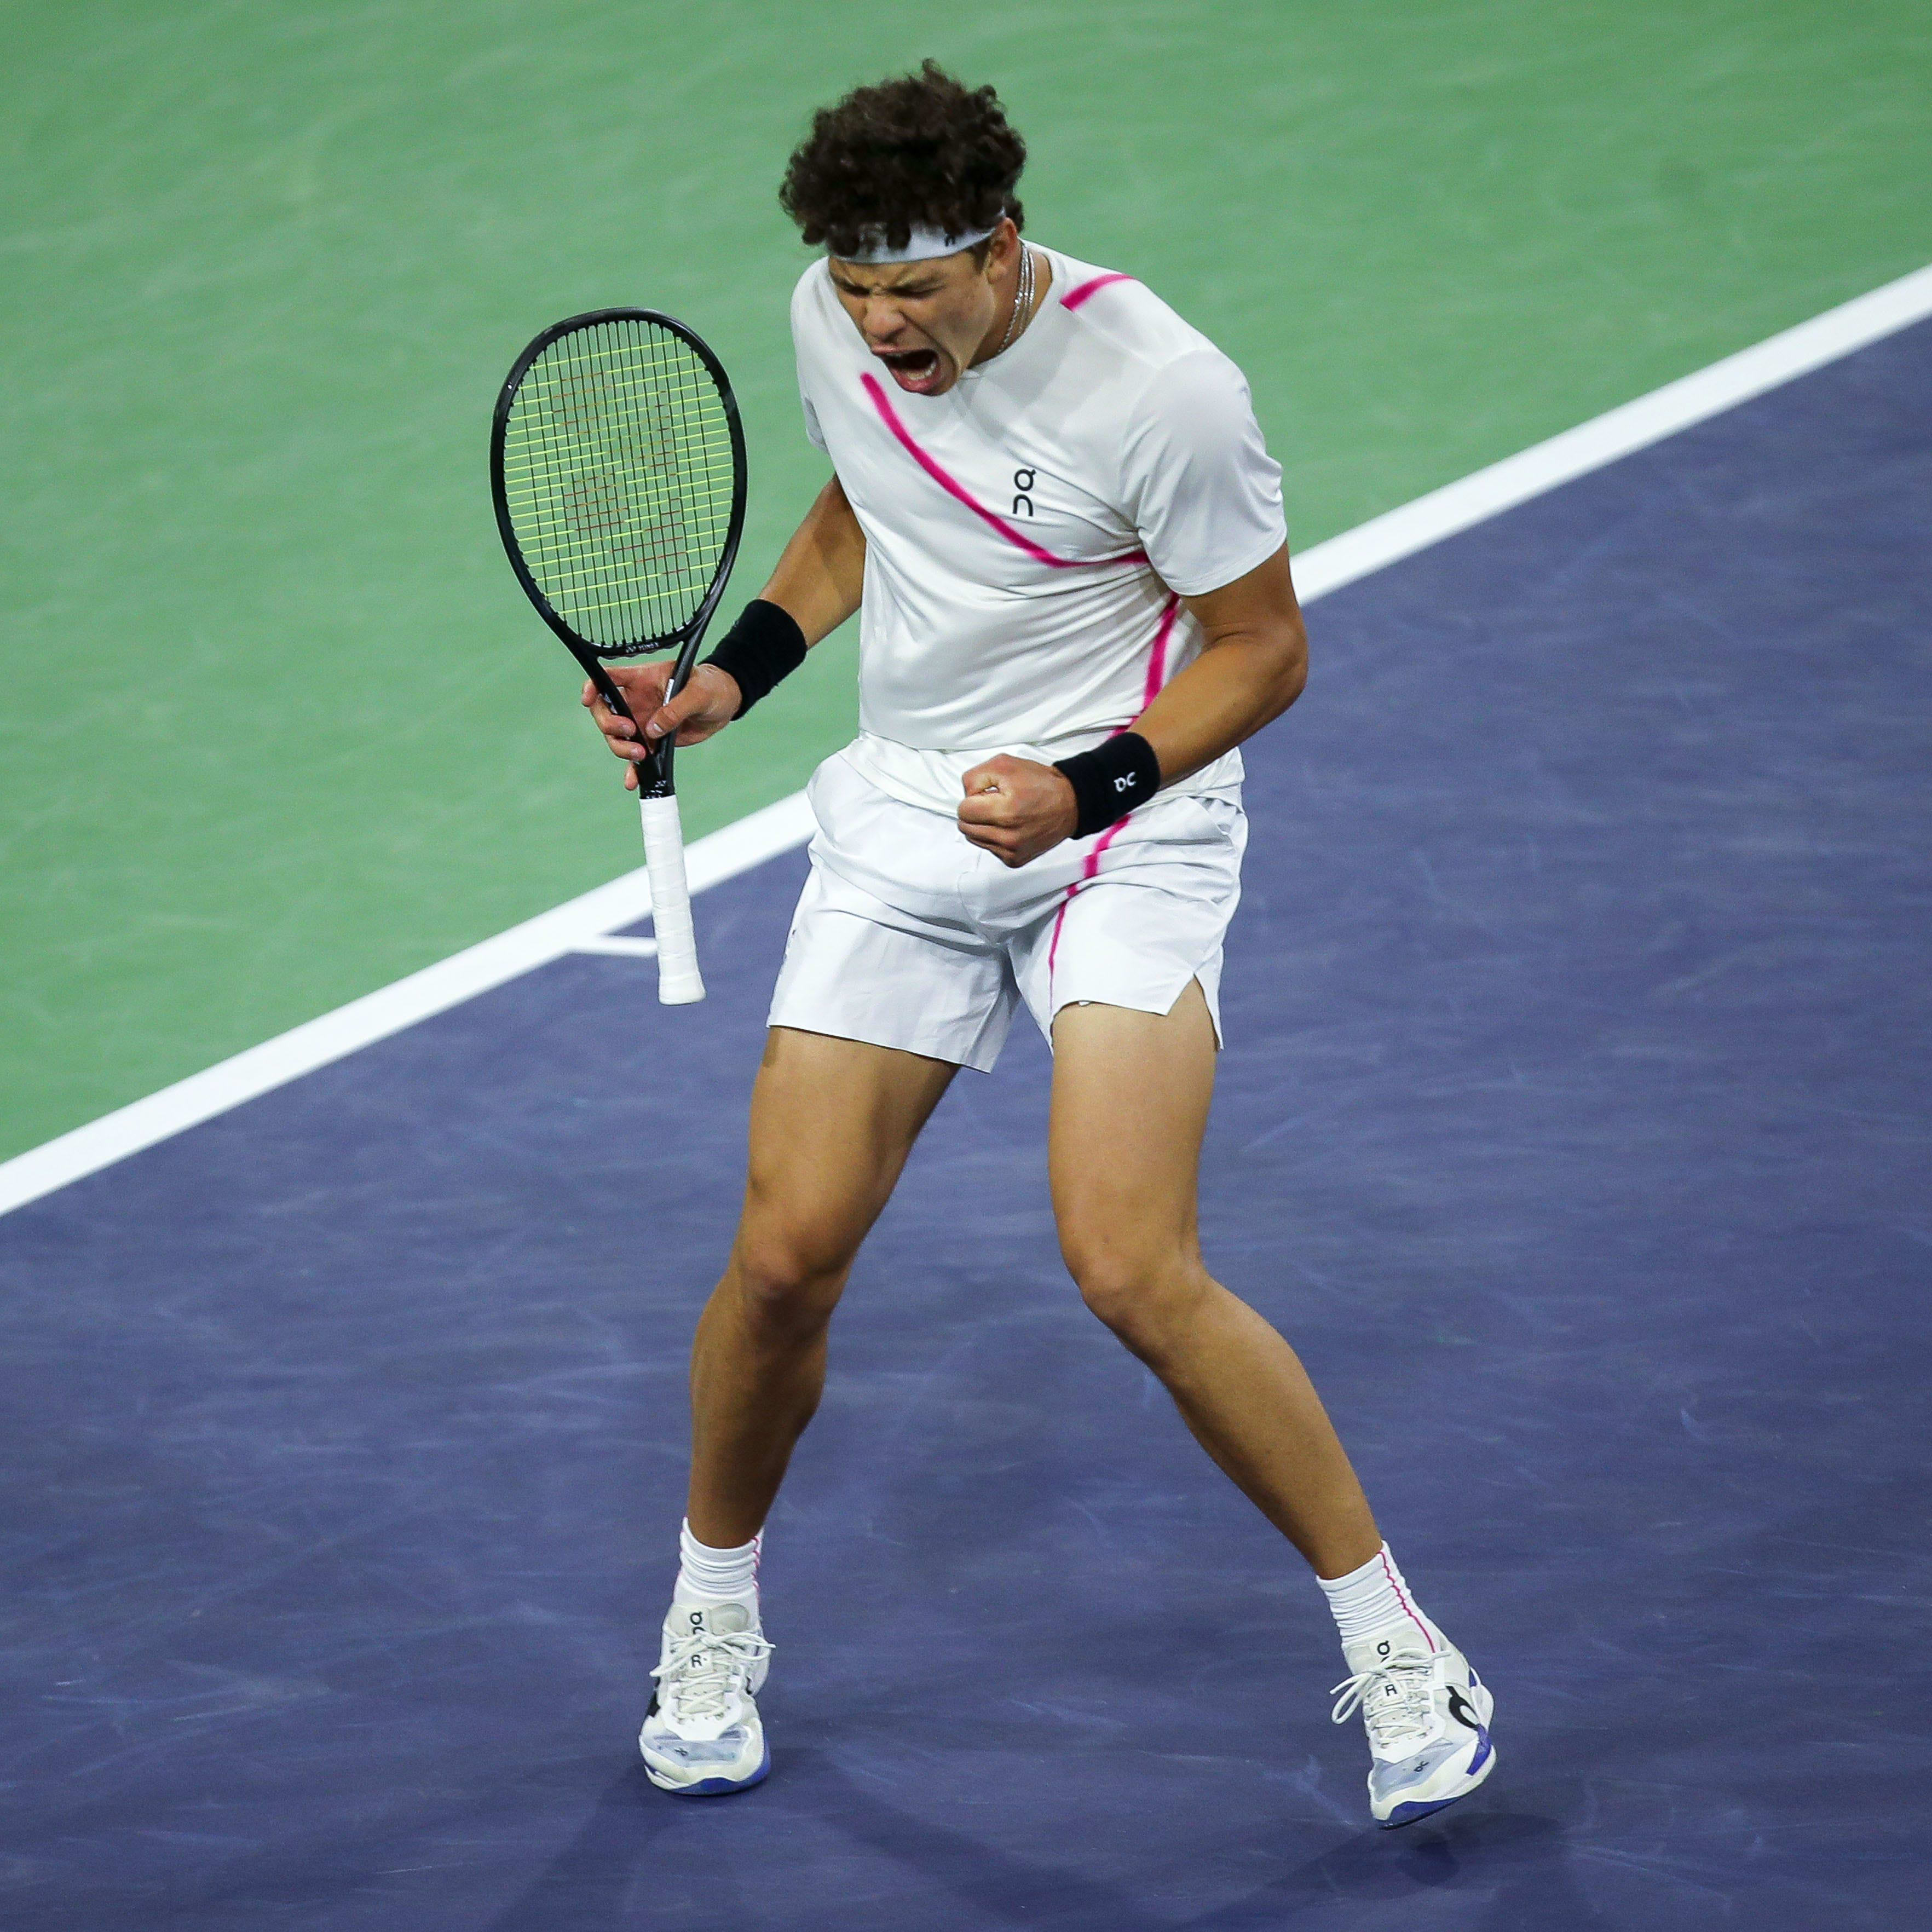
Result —
[[0, 1221], [6, 1922], [1918, 1922], [1928, 431], [1918, 325], [1325, 597], [1252, 748], [1206, 1244], [1497, 1687], [1482, 1793], [1368, 1828], [1018, 1032], [835, 1329], [773, 1776], [647, 1787], [792, 854], [701, 1009], [570, 956]]

